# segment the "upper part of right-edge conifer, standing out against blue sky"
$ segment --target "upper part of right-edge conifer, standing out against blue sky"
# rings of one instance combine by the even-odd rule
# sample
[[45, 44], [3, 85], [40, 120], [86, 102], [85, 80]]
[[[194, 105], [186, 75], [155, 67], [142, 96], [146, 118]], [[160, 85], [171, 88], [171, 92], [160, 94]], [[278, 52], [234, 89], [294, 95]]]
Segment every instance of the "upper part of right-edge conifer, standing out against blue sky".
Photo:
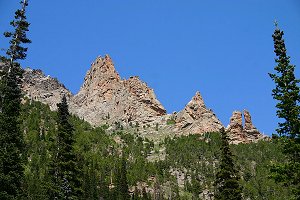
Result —
[[286, 54], [283, 35], [283, 31], [276, 27], [272, 35], [277, 56], [277, 66], [274, 68], [276, 73], [269, 74], [276, 85], [272, 90], [273, 98], [278, 101], [276, 114], [283, 119], [283, 122], [278, 123], [276, 131], [279, 135], [296, 138], [299, 137], [300, 130], [299, 80], [295, 77], [295, 65], [290, 64], [290, 57]]

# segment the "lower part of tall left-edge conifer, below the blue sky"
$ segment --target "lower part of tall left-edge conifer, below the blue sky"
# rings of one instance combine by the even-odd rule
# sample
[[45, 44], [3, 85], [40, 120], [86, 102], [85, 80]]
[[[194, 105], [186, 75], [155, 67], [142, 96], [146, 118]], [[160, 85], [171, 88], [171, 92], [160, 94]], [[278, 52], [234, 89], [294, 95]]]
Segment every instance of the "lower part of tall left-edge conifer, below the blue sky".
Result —
[[16, 81], [18, 73], [12, 68], [1, 80], [0, 199], [13, 199], [22, 194], [25, 145], [19, 122], [21, 91]]

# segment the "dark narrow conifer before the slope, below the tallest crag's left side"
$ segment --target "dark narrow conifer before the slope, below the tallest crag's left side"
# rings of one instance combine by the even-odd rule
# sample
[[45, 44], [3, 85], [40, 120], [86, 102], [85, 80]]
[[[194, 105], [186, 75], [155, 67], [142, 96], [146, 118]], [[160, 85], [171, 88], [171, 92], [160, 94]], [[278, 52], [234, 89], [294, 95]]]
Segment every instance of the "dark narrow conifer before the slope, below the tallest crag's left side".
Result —
[[57, 148], [50, 167], [50, 199], [78, 199], [82, 195], [81, 171], [73, 148], [74, 128], [69, 122], [66, 96], [57, 107]]

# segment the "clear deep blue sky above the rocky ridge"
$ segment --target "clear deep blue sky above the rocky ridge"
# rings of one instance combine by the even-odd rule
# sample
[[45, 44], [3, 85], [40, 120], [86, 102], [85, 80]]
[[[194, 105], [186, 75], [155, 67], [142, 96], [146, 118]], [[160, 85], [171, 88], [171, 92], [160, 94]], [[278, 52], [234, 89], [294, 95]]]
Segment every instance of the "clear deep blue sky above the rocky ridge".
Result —
[[[0, 0], [0, 32], [10, 30], [18, 3]], [[32, 44], [22, 64], [73, 93], [91, 62], [109, 54], [121, 77], [140, 76], [169, 113], [199, 90], [225, 126], [232, 111], [248, 109], [271, 134], [275, 19], [300, 78], [299, 0], [30, 0], [27, 15]], [[0, 47], [8, 47], [3, 37]]]

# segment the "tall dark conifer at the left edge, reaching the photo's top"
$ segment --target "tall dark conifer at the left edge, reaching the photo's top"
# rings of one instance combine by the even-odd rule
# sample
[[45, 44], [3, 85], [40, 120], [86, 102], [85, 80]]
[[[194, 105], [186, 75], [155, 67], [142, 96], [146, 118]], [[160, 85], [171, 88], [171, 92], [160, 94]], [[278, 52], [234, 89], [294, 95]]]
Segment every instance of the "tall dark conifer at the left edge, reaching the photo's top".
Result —
[[24, 180], [26, 156], [19, 121], [22, 69], [17, 60], [26, 58], [27, 48], [22, 44], [31, 41], [26, 37], [29, 27], [25, 15], [27, 1], [21, 2], [21, 6], [10, 23], [14, 31], [4, 33], [10, 38], [10, 47], [7, 56], [1, 56], [4, 65], [0, 70], [0, 199], [15, 199], [22, 195]]

